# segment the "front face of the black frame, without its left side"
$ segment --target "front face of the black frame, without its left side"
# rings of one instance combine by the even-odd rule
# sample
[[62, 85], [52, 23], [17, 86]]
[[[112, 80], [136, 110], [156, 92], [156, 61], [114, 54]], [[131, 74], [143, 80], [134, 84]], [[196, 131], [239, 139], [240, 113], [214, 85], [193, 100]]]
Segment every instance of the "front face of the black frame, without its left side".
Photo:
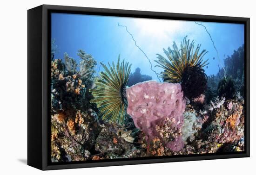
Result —
[[[133, 10], [119, 10], [119, 9], [104, 9], [104, 8], [91, 8], [91, 7], [75, 7], [75, 6], [54, 6], [54, 5], [42, 5], [42, 58], [43, 58], [43, 119], [42, 119], [42, 134], [45, 136], [47, 135], [47, 71], [48, 71], [48, 65], [47, 65], [47, 56], [48, 56], [48, 10], [65, 10], [65, 11], [79, 11], [79, 12], [97, 12], [97, 13], [104, 13], [105, 15], [108, 14], [115, 14], [115, 15], [124, 15], [128, 13], [129, 15], [141, 15], [143, 18], [146, 17], [152, 17], [154, 16], [155, 18], [159, 19], [161, 16], [166, 16], [168, 18], [173, 17], [173, 18], [184, 18], [184, 19], [201, 19], [203, 20], [214, 20], [218, 22], [225, 22], [229, 21], [230, 23], [232, 22], [240, 22], [243, 23], [246, 26], [246, 90], [247, 90], [247, 106], [246, 106], [246, 133], [247, 133], [247, 139], [246, 139], [246, 152], [241, 153], [241, 154], [229, 154], [225, 155], [212, 155], [212, 156], [193, 156], [193, 157], [173, 157], [173, 158], [163, 158], [163, 159], [147, 159], [147, 160], [128, 160], [128, 161], [113, 161], [113, 162], [95, 162], [95, 163], [74, 163], [74, 164], [65, 164], [65, 165], [49, 165], [47, 160], [48, 160], [48, 155], [47, 155], [47, 146], [48, 146], [48, 141], [46, 137], [43, 137], [43, 143], [42, 143], [42, 170], [53, 170], [53, 169], [74, 169], [74, 168], [89, 168], [89, 167], [103, 167], [103, 166], [119, 166], [119, 165], [132, 165], [132, 164], [147, 164], [147, 163], [160, 163], [160, 162], [181, 162], [181, 161], [199, 161], [199, 160], [211, 160], [211, 159], [226, 159], [226, 158], [240, 158], [240, 157], [249, 157], [249, 18], [240, 18], [240, 17], [227, 17], [227, 16], [212, 16], [212, 15], [198, 15], [198, 14], [182, 14], [182, 13], [169, 13], [169, 12], [150, 12], [150, 11], [133, 11]], [[177, 19], [179, 20], [179, 19]], [[48, 137], [48, 136], [47, 136]]]

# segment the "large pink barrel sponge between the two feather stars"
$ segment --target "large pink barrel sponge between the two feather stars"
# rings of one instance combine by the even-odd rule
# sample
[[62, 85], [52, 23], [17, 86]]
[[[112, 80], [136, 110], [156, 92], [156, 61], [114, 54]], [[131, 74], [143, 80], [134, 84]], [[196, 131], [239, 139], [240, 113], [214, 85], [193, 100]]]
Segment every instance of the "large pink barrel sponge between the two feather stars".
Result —
[[186, 102], [179, 83], [145, 81], [126, 89], [127, 113], [148, 141], [158, 137], [166, 147], [179, 151]]

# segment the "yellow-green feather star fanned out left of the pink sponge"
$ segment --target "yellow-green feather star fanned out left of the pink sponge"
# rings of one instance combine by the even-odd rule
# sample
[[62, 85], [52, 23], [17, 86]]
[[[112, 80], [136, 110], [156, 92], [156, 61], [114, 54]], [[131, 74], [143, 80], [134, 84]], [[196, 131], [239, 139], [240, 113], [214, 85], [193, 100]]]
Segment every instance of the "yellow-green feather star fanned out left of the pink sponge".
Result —
[[109, 123], [124, 124], [126, 115], [127, 99], [125, 88], [128, 83], [128, 76], [131, 71], [131, 64], [124, 60], [120, 63], [120, 56], [115, 67], [108, 63], [108, 67], [101, 63], [104, 71], [96, 78], [96, 88], [90, 89], [95, 103], [100, 111], [103, 120]]

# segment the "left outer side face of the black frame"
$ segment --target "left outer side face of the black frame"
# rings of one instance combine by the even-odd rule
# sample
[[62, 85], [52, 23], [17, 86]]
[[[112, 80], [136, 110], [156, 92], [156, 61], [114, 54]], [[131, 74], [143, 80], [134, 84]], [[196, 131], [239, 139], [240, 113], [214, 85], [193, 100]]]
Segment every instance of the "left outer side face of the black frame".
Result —
[[42, 6], [27, 10], [27, 165], [42, 169]]

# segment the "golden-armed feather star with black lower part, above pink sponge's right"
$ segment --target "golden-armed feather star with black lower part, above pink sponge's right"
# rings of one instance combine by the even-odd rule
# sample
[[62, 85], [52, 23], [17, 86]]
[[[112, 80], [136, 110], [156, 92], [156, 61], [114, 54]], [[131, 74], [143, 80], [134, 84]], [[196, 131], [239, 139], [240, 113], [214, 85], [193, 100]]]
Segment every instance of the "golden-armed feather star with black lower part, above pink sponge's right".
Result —
[[207, 88], [207, 75], [202, 69], [208, 65], [208, 60], [203, 61], [206, 50], [199, 52], [201, 45], [198, 44], [194, 50], [195, 43], [191, 43], [185, 37], [178, 49], [176, 43], [173, 49], [170, 47], [164, 50], [168, 59], [157, 54], [158, 60], [155, 62], [158, 67], [163, 68], [161, 76], [163, 81], [172, 83], [181, 83], [184, 96], [192, 100], [201, 94], [204, 94]]

